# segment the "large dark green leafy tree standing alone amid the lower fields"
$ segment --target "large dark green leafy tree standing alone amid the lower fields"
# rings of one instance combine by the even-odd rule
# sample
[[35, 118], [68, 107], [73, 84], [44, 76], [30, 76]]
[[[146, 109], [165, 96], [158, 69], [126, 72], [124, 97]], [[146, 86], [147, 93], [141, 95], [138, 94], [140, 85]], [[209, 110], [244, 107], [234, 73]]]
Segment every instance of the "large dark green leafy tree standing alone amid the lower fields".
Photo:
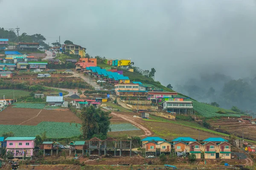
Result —
[[102, 111], [100, 108], [96, 109], [93, 106], [83, 108], [81, 110], [81, 119], [84, 139], [91, 139], [93, 135], [107, 136], [110, 128], [110, 112]]

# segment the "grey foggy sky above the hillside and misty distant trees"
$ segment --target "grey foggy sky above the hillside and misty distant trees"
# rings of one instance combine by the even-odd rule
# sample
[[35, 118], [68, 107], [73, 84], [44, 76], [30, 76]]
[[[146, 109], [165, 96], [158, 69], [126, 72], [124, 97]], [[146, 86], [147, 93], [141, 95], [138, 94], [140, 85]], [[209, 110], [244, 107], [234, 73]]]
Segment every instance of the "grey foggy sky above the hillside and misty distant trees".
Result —
[[[61, 36], [91, 56], [131, 58], [163, 85], [255, 75], [255, 0], [0, 0], [0, 27]], [[3, 15], [7, 14], [7, 15]]]

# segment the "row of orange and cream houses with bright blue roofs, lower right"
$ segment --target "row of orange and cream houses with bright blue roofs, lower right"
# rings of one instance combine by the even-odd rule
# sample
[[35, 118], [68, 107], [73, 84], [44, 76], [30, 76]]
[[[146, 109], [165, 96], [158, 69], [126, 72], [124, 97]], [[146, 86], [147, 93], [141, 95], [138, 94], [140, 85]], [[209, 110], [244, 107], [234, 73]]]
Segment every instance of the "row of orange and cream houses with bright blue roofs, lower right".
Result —
[[231, 144], [223, 138], [210, 137], [198, 142], [191, 137], [178, 137], [167, 142], [160, 137], [146, 137], [141, 141], [145, 152], [153, 153], [155, 156], [171, 153], [173, 148], [177, 156], [194, 153], [197, 159], [201, 159], [201, 153], [204, 153], [205, 159], [231, 159]]

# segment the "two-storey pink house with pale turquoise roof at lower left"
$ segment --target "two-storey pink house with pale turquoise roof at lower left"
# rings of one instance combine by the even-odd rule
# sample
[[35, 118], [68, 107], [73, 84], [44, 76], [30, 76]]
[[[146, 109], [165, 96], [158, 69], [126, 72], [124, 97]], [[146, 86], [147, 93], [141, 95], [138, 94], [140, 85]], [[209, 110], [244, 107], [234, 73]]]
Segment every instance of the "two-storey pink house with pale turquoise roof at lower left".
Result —
[[6, 154], [12, 153], [15, 158], [24, 156], [32, 159], [35, 147], [35, 137], [8, 137], [6, 141]]

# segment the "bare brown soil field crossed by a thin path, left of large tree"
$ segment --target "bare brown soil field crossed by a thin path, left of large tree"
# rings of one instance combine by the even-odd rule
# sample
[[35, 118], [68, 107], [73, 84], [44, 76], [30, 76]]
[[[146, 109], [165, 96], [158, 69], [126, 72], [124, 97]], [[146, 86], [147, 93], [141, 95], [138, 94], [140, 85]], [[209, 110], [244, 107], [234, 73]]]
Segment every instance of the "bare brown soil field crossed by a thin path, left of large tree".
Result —
[[[20, 123], [31, 119], [40, 112], [40, 109], [28, 108], [11, 108], [7, 107], [1, 112], [0, 124], [2, 125], [19, 125]], [[22, 123], [22, 125], [38, 125], [40, 122], [76, 122], [81, 120], [68, 109], [62, 110], [42, 110], [41, 113]]]

